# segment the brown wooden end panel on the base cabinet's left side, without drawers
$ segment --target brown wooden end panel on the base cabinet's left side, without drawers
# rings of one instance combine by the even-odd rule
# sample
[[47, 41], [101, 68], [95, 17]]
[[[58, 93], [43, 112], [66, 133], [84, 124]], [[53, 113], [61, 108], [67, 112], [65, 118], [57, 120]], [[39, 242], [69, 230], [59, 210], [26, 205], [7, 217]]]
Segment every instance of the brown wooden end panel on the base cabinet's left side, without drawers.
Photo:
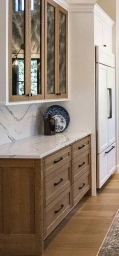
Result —
[[0, 159], [1, 255], [42, 255], [41, 162]]

